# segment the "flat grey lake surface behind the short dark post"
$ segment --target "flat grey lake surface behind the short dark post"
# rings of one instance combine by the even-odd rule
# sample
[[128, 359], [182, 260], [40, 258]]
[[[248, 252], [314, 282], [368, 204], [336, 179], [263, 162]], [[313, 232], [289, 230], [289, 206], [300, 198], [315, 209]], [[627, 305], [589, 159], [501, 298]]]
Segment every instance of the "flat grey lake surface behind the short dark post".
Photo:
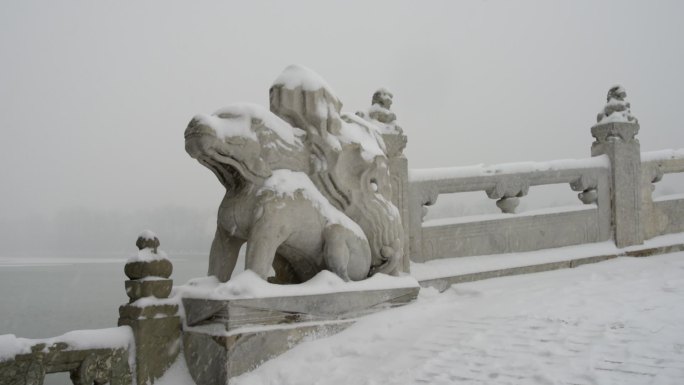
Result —
[[[207, 273], [206, 255], [169, 257], [176, 285]], [[128, 302], [126, 259], [0, 257], [0, 334], [45, 338], [116, 326]]]

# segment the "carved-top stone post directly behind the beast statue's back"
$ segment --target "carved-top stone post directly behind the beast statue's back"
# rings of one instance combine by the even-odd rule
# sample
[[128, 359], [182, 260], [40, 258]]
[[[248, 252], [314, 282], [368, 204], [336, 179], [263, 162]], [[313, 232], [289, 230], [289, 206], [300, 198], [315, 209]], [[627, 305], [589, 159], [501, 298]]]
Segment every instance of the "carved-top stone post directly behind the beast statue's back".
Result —
[[387, 158], [389, 159], [392, 203], [399, 209], [401, 224], [404, 228], [404, 260], [400, 268], [401, 271], [408, 273], [410, 269], [408, 159], [403, 154], [407, 138], [404, 131], [396, 123], [396, 114], [390, 110], [393, 97], [394, 95], [391, 92], [381, 88], [373, 94], [372, 104], [368, 112], [357, 112], [357, 115], [374, 123], [382, 130], [382, 139], [385, 142]]

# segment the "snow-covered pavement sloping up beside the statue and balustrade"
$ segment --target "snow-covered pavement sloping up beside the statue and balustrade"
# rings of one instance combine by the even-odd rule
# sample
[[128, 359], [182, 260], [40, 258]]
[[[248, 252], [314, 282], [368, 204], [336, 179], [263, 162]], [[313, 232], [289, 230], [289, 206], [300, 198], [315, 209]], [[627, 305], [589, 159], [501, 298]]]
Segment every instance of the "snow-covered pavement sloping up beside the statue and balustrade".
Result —
[[247, 384], [684, 384], [684, 253], [423, 289]]

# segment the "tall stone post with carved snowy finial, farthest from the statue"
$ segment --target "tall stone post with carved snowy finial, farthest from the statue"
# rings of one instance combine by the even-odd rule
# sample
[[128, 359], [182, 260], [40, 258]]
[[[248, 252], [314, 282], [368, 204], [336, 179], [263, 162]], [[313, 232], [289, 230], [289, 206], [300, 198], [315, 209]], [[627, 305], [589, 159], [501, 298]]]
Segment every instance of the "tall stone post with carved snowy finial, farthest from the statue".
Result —
[[607, 103], [591, 128], [591, 156], [607, 155], [611, 164], [612, 224], [617, 247], [643, 243], [639, 122], [632, 116], [621, 86], [608, 91]]

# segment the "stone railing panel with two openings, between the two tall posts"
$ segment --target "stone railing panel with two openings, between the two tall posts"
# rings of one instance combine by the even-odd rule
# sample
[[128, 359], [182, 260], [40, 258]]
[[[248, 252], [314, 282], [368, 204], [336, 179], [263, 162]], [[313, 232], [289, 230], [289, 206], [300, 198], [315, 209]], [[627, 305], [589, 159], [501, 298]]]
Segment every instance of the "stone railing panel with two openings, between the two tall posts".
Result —
[[[411, 258], [422, 262], [605, 241], [611, 235], [609, 175], [605, 156], [410, 170]], [[578, 191], [587, 206], [423, 222], [425, 206], [434, 204], [440, 194], [483, 191], [504, 213], [512, 213], [530, 186], [558, 183]]]

